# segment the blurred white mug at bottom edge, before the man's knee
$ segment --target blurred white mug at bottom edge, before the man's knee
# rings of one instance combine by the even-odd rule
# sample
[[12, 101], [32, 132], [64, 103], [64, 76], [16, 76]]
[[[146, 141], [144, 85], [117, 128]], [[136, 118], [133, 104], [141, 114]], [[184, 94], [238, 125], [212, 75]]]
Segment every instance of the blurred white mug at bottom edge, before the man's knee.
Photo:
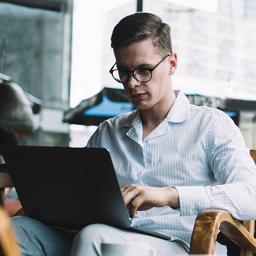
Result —
[[101, 244], [102, 256], [156, 256], [156, 251], [146, 243]]

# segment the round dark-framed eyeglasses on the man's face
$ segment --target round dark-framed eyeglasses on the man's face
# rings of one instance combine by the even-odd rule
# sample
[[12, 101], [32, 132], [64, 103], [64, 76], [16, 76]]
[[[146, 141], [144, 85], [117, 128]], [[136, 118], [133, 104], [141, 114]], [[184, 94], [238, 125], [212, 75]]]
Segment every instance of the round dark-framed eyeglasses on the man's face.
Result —
[[148, 67], [138, 67], [135, 70], [128, 71], [124, 68], [119, 69], [113, 69], [116, 65], [116, 63], [111, 67], [111, 70], [109, 72], [113, 76], [113, 78], [119, 82], [119, 83], [126, 83], [129, 80], [130, 73], [133, 74], [134, 78], [140, 82], [146, 83], [150, 81], [152, 78], [152, 71], [161, 63], [163, 62], [169, 54], [167, 54], [160, 62], [158, 62], [154, 67], [148, 68]]

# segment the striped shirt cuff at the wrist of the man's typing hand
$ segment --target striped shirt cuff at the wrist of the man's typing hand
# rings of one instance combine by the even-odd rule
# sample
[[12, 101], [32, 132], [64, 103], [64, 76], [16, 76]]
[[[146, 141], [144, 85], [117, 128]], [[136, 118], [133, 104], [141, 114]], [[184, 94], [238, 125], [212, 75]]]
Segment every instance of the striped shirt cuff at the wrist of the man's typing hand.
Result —
[[179, 194], [180, 216], [198, 215], [210, 208], [209, 196], [203, 186], [175, 186]]

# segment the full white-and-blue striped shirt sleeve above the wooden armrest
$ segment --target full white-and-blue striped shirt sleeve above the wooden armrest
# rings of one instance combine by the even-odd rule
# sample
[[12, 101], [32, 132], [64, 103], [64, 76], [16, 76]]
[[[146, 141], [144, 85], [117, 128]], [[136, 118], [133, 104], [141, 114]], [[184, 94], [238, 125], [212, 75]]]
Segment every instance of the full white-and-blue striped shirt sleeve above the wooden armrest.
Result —
[[256, 166], [239, 128], [225, 113], [212, 120], [206, 154], [219, 185], [175, 187], [180, 215], [218, 208], [240, 220], [256, 219]]

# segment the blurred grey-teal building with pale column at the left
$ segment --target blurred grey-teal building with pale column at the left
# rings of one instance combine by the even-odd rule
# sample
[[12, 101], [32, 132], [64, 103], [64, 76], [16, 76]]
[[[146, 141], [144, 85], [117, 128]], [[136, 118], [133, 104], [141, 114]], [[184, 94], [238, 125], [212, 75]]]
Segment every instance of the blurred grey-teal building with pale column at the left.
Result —
[[[68, 145], [72, 0], [0, 1], [0, 73], [42, 102], [25, 145]], [[8, 3], [9, 2], [9, 3]], [[15, 4], [14, 4], [15, 3]]]

